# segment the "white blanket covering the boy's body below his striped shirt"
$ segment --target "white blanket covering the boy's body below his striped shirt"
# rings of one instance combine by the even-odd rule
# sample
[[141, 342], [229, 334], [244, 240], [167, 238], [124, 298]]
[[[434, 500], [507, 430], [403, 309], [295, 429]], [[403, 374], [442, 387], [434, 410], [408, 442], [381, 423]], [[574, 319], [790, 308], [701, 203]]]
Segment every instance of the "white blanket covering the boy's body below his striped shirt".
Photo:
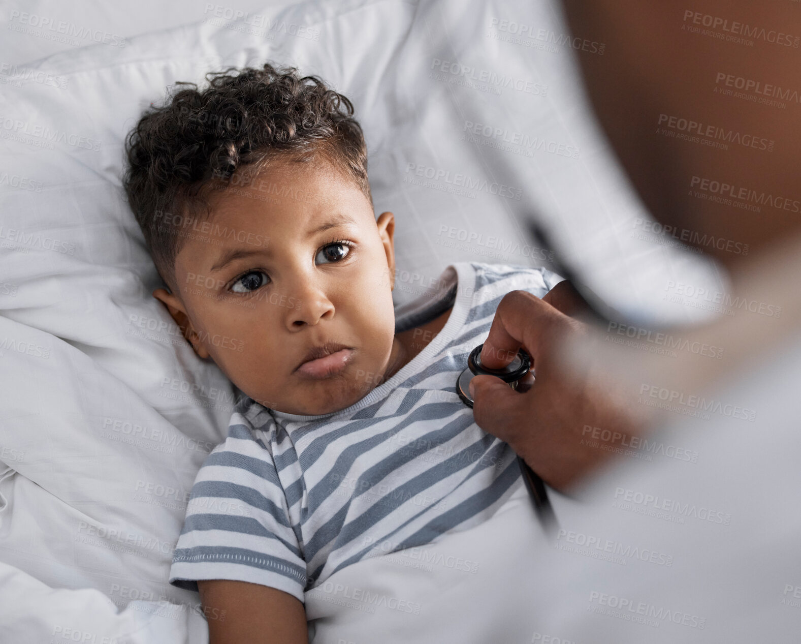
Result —
[[[559, 520], [578, 504], [550, 492]], [[490, 520], [421, 548], [360, 561], [306, 593], [313, 644], [524, 644], [549, 588], [540, 573], [556, 537], [534, 513], [525, 485]]]

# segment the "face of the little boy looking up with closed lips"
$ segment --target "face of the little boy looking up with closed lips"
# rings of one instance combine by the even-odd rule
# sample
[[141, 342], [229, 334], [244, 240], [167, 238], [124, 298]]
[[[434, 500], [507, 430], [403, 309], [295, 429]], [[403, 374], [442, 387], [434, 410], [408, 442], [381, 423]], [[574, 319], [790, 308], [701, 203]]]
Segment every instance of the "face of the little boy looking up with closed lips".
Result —
[[[216, 192], [211, 212], [176, 257], [179, 293], [153, 293], [199, 356], [287, 413], [338, 411], [381, 382], [395, 335], [392, 213], [376, 222], [328, 164], [283, 160]], [[326, 343], [346, 348], [300, 367]]]

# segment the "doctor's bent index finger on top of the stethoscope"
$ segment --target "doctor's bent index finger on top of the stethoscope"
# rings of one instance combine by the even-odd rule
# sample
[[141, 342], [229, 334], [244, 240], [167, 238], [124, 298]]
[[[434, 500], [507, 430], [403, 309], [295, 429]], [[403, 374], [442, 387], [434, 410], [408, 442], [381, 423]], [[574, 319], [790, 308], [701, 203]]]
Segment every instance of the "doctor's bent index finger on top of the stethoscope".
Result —
[[565, 326], [570, 326], [570, 318], [548, 302], [528, 291], [513, 290], [497, 306], [481, 349], [481, 364], [488, 369], [501, 369], [512, 362], [521, 346], [536, 362], [553, 330]]

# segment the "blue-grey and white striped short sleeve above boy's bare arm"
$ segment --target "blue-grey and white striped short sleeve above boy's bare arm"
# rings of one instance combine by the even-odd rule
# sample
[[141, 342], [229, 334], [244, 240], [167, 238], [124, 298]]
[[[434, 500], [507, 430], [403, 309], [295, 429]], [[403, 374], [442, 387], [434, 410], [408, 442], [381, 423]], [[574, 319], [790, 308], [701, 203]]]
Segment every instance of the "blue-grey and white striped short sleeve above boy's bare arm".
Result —
[[[197, 590], [197, 580], [268, 585], [304, 601], [306, 564], [271, 445], [234, 413], [228, 436], [207, 456], [192, 485], [169, 582]], [[297, 532], [296, 532], [297, 530]]]

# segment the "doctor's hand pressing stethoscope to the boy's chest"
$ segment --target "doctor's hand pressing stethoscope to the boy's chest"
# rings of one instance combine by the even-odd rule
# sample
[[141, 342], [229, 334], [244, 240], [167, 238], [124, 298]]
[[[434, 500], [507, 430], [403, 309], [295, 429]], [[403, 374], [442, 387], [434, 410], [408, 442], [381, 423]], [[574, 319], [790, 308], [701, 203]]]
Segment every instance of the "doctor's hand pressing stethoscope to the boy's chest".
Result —
[[[609, 460], [622, 436], [643, 431], [642, 417], [608, 374], [598, 367], [577, 373], [564, 366], [560, 347], [588, 332], [584, 322], [570, 317], [581, 317], [582, 310], [586, 305], [568, 281], [542, 299], [523, 290], [506, 294], [481, 350], [481, 363], [490, 369], [505, 367], [522, 346], [532, 358], [536, 380], [523, 393], [492, 375], [470, 382], [477, 425], [505, 440], [559, 490]], [[603, 435], [616, 438], [599, 442], [591, 436], [600, 433], [594, 428], [609, 430]]]

